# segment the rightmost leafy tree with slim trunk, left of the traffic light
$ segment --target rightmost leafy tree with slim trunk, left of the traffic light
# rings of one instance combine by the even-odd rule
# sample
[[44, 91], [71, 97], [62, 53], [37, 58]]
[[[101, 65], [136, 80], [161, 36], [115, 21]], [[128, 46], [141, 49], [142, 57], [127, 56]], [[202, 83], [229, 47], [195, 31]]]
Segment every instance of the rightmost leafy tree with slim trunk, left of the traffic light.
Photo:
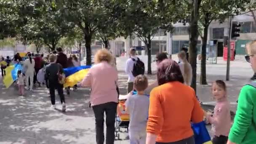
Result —
[[[207, 85], [206, 81], [206, 47], [208, 27], [211, 21], [223, 22], [230, 15], [238, 15], [246, 10], [250, 0], [202, 0], [199, 7], [199, 20], [203, 26], [201, 48], [201, 77], [200, 84]], [[227, 6], [228, 5], [228, 6]]]

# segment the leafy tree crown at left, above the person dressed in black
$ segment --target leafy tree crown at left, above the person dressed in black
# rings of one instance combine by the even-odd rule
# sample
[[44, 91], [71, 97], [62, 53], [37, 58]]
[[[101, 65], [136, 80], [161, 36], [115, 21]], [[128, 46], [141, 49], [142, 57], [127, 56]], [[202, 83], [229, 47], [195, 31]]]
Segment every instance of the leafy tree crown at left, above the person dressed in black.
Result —
[[34, 15], [27, 13], [27, 24], [21, 28], [23, 40], [35, 45], [48, 46], [48, 51], [53, 51], [61, 37], [66, 36], [73, 25], [65, 21], [56, 9], [54, 3], [46, 0], [31, 1]]

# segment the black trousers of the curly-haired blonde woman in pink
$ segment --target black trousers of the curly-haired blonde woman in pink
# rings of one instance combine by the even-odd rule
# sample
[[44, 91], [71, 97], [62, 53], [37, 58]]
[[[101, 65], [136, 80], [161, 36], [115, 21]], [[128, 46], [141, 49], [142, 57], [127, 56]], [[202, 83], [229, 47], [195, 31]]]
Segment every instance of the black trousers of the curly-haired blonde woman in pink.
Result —
[[114, 144], [115, 141], [115, 116], [117, 103], [108, 102], [93, 106], [96, 122], [96, 144], [104, 144], [104, 112], [106, 113], [106, 144]]

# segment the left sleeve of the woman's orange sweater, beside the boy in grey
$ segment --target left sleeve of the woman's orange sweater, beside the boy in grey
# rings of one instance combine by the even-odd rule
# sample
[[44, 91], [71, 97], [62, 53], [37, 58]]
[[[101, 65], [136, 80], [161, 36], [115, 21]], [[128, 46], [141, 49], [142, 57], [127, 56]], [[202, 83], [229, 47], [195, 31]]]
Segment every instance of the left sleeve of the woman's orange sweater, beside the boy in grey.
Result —
[[163, 126], [163, 107], [156, 90], [151, 91], [149, 96], [149, 118], [147, 132], [158, 135]]

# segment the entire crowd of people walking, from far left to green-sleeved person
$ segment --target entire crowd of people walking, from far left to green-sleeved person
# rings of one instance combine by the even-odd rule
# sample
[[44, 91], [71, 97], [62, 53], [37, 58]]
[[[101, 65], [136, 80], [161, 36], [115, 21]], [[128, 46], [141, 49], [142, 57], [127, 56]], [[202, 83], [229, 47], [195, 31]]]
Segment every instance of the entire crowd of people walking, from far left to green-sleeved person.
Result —
[[[256, 72], [256, 42], [247, 46], [246, 60]], [[195, 144], [191, 123], [212, 124], [213, 144], [253, 144], [256, 141], [256, 84], [245, 85], [239, 95], [237, 112], [232, 125], [227, 87], [224, 81], [216, 80], [212, 84], [212, 95], [216, 99], [213, 115], [205, 112], [190, 87], [192, 83], [192, 67], [187, 60], [187, 52], [178, 54], [179, 63], [168, 58], [166, 53], [156, 56], [157, 80], [148, 83], [144, 75], [144, 63], [131, 48], [130, 58], [126, 61], [125, 72], [128, 75], [128, 94], [125, 111], [130, 115], [130, 144]], [[41, 57], [41, 58], [39, 58]], [[27, 53], [23, 65], [27, 89], [32, 90], [35, 74], [42, 69], [41, 55], [32, 57]], [[4, 61], [4, 60], [2, 60]], [[19, 55], [14, 61], [22, 61]], [[115, 118], [117, 112], [119, 88], [118, 72], [112, 53], [106, 49], [97, 51], [95, 64], [89, 69], [80, 85], [91, 88], [90, 102], [96, 122], [96, 144], [104, 144], [104, 114], [106, 114], [106, 144], [114, 144]], [[1, 62], [2, 65], [10, 62]], [[45, 80], [51, 95], [51, 104], [55, 108], [55, 90], [57, 89], [62, 110], [66, 110], [63, 94], [63, 69], [78, 67], [80, 62], [72, 55], [67, 58], [61, 48], [47, 56], [44, 63]], [[4, 69], [4, 67], [3, 67]], [[3, 70], [2, 69], [2, 73]], [[4, 76], [4, 74], [2, 74]], [[24, 75], [18, 72], [18, 84], [21, 94]], [[34, 81], [33, 81], [34, 80]], [[102, 82], [104, 80], [104, 82]], [[28, 88], [28, 85], [30, 87]], [[136, 94], [132, 95], [136, 91]], [[149, 97], [148, 97], [149, 95]]]

